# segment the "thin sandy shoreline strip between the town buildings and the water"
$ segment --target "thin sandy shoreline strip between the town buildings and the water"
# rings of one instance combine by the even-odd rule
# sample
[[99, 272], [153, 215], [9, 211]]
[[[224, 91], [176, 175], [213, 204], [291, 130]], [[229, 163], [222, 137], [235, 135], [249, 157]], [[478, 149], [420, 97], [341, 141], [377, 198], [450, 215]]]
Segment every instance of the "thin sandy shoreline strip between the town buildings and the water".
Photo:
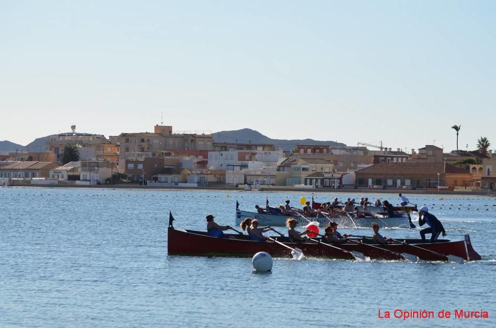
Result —
[[229, 187], [229, 186], [220, 186], [220, 187], [178, 187], [178, 186], [140, 186], [140, 185], [122, 185], [122, 184], [99, 184], [99, 185], [61, 185], [61, 184], [17, 184], [12, 186], [0, 186], [2, 188], [93, 188], [93, 189], [135, 189], [135, 190], [213, 190], [213, 191], [243, 191], [243, 192], [295, 192], [295, 193], [361, 193], [361, 194], [395, 194], [395, 193], [407, 193], [411, 194], [425, 194], [425, 195], [461, 195], [461, 196], [490, 196], [496, 197], [496, 191], [487, 191], [487, 190], [476, 190], [476, 191], [448, 191], [448, 190], [426, 190], [426, 189], [330, 189], [330, 188], [319, 188], [319, 189], [295, 189], [288, 187], [262, 187], [261, 190], [245, 190], [239, 187]]

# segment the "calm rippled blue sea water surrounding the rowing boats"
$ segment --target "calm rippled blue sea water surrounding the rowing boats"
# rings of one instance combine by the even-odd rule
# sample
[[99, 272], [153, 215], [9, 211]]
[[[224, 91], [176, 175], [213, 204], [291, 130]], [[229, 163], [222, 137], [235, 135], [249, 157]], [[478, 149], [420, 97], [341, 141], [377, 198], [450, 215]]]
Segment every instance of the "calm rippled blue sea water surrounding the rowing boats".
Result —
[[[483, 260], [462, 265], [275, 259], [271, 273], [257, 274], [247, 258], [167, 255], [169, 210], [176, 227], [203, 230], [208, 213], [234, 225], [236, 200], [251, 210], [265, 197], [296, 206], [301, 196], [311, 197], [0, 188], [0, 327], [495, 327], [495, 197], [408, 195], [430, 207], [450, 238], [470, 234]], [[378, 319], [378, 310], [396, 309], [483, 310], [490, 318]]]

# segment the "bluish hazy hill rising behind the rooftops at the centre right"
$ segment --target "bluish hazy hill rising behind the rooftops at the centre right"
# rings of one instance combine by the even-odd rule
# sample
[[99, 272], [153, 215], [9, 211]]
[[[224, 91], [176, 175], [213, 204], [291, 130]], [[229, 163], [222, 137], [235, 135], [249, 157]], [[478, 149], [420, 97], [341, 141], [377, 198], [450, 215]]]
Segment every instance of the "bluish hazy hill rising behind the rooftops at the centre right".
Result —
[[241, 129], [233, 131], [220, 131], [213, 134], [214, 142], [228, 142], [234, 143], [238, 140], [239, 143], [253, 143], [253, 144], [272, 144], [282, 147], [285, 151], [290, 151], [297, 145], [317, 145], [317, 146], [346, 146], [343, 143], [335, 141], [321, 141], [313, 139], [271, 139], [264, 136], [258, 131], [251, 129]]

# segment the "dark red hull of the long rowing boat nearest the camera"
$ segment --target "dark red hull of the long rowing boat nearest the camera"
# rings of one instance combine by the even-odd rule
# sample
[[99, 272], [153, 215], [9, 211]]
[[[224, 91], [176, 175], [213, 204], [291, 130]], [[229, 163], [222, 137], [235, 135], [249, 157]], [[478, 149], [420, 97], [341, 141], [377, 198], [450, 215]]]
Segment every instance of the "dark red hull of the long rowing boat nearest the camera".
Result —
[[[293, 243], [288, 237], [277, 237], [277, 240], [289, 247], [301, 249], [307, 257], [353, 259], [349, 253], [320, 243]], [[347, 251], [361, 252], [371, 259], [400, 260], [401, 255], [398, 253], [413, 254], [425, 261], [445, 261], [444, 255], [454, 255], [466, 261], [481, 259], [472, 248], [468, 235], [459, 241], [438, 240], [435, 243], [422, 243], [420, 239], [405, 239], [406, 245], [374, 245], [382, 249], [368, 246], [372, 245], [370, 238], [363, 237], [360, 240], [362, 244], [333, 245]], [[247, 235], [240, 234], [226, 234], [225, 238], [211, 237], [203, 231], [175, 229], [172, 224], [168, 229], [167, 249], [169, 255], [251, 257], [257, 252], [267, 252], [273, 257], [292, 257], [289, 249], [274, 242], [253, 241]]]

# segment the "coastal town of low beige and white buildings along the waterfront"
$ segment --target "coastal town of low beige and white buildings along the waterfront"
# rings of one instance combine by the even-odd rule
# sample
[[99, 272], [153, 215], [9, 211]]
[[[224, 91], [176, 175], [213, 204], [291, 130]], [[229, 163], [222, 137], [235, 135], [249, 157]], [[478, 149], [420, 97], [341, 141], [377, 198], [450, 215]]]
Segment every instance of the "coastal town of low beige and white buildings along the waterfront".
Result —
[[71, 132], [47, 138], [44, 151], [0, 155], [0, 185], [495, 190], [496, 154], [487, 146], [446, 152], [419, 145], [405, 152], [370, 144], [294, 145], [286, 151], [215, 142], [212, 133], [168, 125], [109, 138], [72, 125]]

